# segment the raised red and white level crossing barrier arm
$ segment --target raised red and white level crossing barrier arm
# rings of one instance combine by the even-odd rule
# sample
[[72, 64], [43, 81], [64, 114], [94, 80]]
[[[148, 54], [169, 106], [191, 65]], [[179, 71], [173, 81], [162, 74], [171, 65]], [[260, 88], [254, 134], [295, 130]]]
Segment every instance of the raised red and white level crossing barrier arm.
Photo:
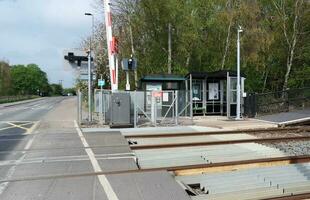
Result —
[[118, 69], [115, 65], [115, 40], [112, 36], [112, 14], [110, 8], [110, 0], [104, 0], [104, 11], [105, 11], [105, 25], [106, 25], [106, 34], [107, 34], [107, 46], [109, 54], [109, 68], [110, 68], [110, 80], [111, 80], [111, 90], [118, 90]]

